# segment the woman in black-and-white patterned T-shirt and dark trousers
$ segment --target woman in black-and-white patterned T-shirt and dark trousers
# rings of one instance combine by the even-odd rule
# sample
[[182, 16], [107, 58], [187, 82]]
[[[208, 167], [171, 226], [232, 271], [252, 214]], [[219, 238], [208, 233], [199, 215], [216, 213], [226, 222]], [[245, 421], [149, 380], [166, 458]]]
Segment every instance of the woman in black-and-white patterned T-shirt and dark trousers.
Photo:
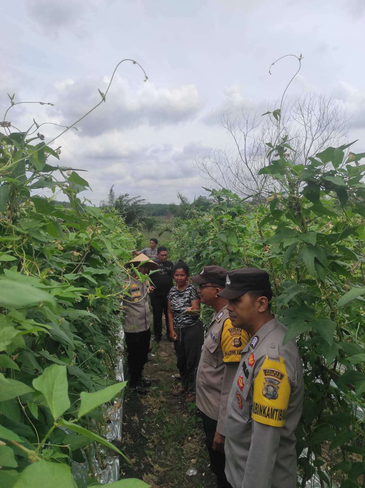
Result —
[[187, 393], [187, 400], [195, 400], [195, 375], [199, 366], [204, 341], [203, 323], [198, 320], [200, 299], [195, 286], [189, 285], [189, 267], [183, 262], [174, 266], [173, 286], [167, 297], [167, 316], [170, 337], [174, 341], [177, 367], [182, 386], [175, 388], [174, 396]]

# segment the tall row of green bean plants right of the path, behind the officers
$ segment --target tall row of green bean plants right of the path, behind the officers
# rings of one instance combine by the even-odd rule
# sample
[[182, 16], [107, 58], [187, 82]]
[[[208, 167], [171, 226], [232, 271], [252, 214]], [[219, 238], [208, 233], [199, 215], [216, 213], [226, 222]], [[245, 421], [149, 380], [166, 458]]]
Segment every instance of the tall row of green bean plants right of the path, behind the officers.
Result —
[[211, 190], [211, 208], [180, 221], [171, 240], [194, 273], [207, 264], [269, 272], [284, 342], [298, 339], [304, 364], [301, 487], [314, 470], [322, 486], [364, 486], [365, 153], [346, 154], [350, 146], [304, 167], [284, 138], [261, 170], [282, 191], [253, 204]]

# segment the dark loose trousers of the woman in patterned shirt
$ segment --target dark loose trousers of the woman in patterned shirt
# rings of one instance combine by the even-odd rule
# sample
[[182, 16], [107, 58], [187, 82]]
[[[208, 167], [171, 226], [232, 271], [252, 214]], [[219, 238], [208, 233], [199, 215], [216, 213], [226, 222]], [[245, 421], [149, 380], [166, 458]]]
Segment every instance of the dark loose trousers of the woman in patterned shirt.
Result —
[[176, 329], [178, 340], [174, 342], [182, 387], [188, 393], [195, 393], [195, 377], [204, 342], [204, 326], [200, 320], [189, 327]]

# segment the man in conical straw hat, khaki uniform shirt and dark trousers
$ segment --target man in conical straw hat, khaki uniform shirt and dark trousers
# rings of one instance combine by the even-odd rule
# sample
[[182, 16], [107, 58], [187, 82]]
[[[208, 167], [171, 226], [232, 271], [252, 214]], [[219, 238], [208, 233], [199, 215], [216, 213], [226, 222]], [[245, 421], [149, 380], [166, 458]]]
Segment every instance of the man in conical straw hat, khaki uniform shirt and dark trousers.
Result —
[[128, 295], [123, 295], [123, 305], [126, 307], [123, 328], [127, 346], [129, 385], [140, 395], [146, 395], [148, 393], [146, 386], [151, 385], [149, 380], [142, 377], [151, 339], [148, 306], [149, 282], [147, 280], [141, 281], [132, 266], [137, 268], [142, 275], [159, 269], [159, 266], [145, 254], [139, 254], [125, 264], [129, 273], [129, 283], [124, 285], [124, 290]]

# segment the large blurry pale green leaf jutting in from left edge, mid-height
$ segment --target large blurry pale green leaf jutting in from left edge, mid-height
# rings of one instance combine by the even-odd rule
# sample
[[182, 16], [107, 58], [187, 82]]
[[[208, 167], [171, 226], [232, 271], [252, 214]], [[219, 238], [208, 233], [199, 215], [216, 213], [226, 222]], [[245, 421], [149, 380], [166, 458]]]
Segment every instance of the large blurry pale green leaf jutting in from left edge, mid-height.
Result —
[[41, 303], [54, 307], [56, 304], [54, 297], [49, 293], [32, 285], [2, 278], [0, 287], [0, 305], [6, 308], [26, 308]]

